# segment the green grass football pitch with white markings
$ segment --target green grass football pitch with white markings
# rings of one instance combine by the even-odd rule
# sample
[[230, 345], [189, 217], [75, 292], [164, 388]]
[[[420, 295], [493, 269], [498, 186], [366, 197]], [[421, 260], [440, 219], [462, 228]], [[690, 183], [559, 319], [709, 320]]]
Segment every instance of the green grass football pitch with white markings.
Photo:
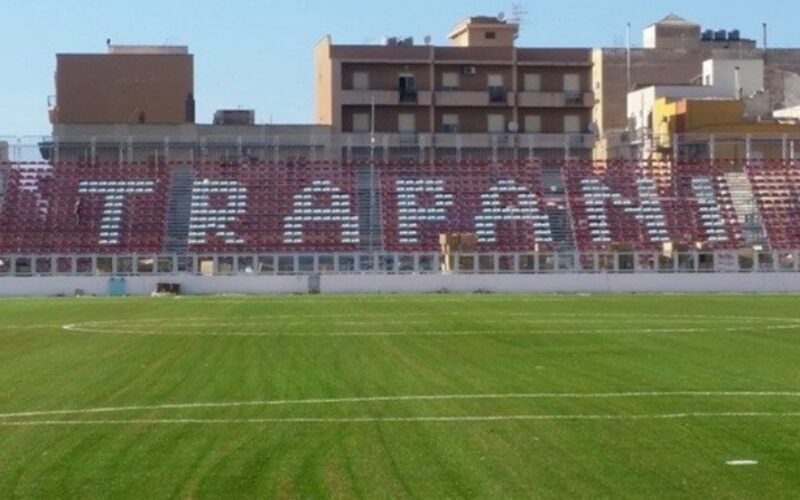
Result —
[[800, 496], [797, 296], [20, 299], [0, 318], [0, 498]]

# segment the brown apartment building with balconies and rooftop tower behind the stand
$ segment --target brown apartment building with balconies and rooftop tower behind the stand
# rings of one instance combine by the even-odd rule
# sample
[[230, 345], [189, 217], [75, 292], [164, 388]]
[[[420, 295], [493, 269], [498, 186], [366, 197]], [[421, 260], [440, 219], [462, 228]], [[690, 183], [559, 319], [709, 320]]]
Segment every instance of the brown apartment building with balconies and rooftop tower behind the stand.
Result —
[[591, 50], [517, 48], [518, 29], [471, 17], [450, 33], [450, 46], [325, 37], [315, 49], [315, 121], [342, 133], [585, 133]]

